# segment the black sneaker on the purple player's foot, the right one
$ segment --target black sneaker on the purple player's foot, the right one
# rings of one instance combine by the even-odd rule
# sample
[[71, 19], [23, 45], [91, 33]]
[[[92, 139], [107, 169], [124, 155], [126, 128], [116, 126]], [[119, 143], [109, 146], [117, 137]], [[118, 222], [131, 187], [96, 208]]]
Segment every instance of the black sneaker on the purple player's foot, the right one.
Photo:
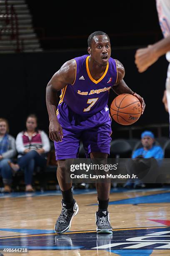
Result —
[[97, 233], [112, 233], [112, 227], [110, 225], [109, 212], [98, 211], [96, 212], [96, 225]]

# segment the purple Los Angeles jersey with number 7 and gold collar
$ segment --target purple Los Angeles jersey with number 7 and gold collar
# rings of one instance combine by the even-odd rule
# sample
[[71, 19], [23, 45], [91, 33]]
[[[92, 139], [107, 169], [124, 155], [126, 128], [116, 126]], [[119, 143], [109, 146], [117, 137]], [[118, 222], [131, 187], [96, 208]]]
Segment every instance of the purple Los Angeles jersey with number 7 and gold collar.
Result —
[[90, 55], [76, 57], [76, 76], [73, 84], [67, 84], [62, 89], [60, 102], [79, 115], [94, 115], [106, 107], [110, 88], [117, 82], [117, 65], [110, 58], [105, 72], [97, 81], [92, 78], [88, 59]]

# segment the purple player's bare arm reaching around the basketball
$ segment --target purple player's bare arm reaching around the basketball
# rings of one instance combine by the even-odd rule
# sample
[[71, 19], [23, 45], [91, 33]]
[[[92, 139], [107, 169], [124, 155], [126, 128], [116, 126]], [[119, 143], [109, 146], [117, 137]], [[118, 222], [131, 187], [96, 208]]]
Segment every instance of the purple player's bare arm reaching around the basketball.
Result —
[[133, 92], [128, 85], [123, 80], [125, 76], [125, 68], [123, 67], [122, 63], [118, 60], [115, 60], [117, 64], [117, 82], [113, 85], [112, 90], [117, 94], [120, 95], [122, 93], [129, 93], [133, 94], [135, 97], [138, 98], [138, 100], [141, 103], [142, 106], [142, 114], [145, 110], [145, 101], [143, 100], [143, 97], [138, 95], [137, 93]]

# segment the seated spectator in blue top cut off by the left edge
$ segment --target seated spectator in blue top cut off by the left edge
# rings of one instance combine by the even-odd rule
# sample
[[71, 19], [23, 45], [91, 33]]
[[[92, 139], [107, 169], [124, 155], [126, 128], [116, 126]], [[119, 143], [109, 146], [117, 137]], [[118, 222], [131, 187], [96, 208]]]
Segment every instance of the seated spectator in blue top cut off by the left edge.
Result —
[[17, 151], [15, 148], [15, 138], [9, 133], [9, 125], [6, 119], [0, 118], [0, 175], [4, 184], [4, 192], [11, 192], [12, 170], [8, 161], [12, 159]]

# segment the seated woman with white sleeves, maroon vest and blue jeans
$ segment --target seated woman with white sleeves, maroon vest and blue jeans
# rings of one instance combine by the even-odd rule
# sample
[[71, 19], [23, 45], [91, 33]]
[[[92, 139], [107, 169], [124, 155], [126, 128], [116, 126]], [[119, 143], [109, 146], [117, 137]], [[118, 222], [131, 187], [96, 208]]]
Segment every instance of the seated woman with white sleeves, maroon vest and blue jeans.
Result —
[[14, 172], [20, 168], [25, 171], [25, 191], [33, 192], [32, 174], [35, 166], [44, 168], [47, 163], [46, 153], [50, 151], [50, 141], [44, 131], [37, 130], [36, 115], [28, 115], [26, 130], [18, 133], [16, 138], [18, 163], [9, 162]]

